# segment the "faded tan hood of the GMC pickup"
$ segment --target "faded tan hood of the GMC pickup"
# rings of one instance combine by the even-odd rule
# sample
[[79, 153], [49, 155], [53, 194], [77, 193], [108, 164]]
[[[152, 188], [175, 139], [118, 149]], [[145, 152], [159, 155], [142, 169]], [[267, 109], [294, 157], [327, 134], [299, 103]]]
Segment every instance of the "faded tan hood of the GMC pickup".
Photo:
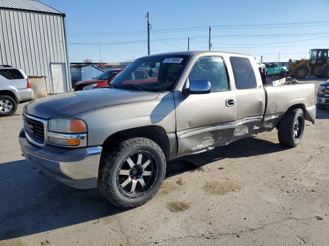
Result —
[[158, 92], [100, 88], [46, 96], [31, 101], [24, 107], [24, 111], [29, 115], [45, 119], [71, 117], [88, 110], [154, 100], [158, 96]]

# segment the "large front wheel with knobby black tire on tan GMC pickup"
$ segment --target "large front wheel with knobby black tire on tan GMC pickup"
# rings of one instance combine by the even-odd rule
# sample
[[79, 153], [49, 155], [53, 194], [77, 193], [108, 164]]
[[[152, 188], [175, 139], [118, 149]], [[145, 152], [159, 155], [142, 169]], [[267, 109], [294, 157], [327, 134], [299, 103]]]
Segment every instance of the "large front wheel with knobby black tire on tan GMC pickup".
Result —
[[[142, 157], [139, 160], [140, 154]], [[143, 166], [148, 162], [148, 160], [145, 161], [147, 158], [150, 164], [144, 168]], [[131, 161], [135, 166], [131, 166]], [[141, 163], [144, 164], [141, 165]], [[146, 170], [151, 168], [152, 171]], [[121, 171], [128, 171], [129, 174], [121, 175]], [[142, 174], [137, 174], [138, 172]], [[150, 173], [149, 177], [146, 175], [147, 172]], [[133, 173], [138, 176], [133, 177]], [[165, 174], [166, 157], [161, 148], [148, 138], [132, 138], [120, 142], [116, 147], [102, 154], [98, 188], [102, 195], [115, 206], [135, 208], [148, 202], [157, 193]], [[141, 179], [143, 185], [139, 181]], [[133, 186], [134, 192], [132, 192]], [[137, 189], [139, 191], [135, 192]]]

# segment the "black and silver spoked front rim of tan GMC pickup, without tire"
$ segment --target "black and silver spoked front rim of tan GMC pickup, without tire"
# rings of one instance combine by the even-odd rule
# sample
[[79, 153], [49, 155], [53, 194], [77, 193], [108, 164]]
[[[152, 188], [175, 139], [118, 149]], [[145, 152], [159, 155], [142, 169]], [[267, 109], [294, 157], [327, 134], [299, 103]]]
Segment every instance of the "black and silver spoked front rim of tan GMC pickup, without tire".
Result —
[[152, 189], [157, 177], [155, 157], [146, 150], [129, 154], [120, 164], [116, 182], [119, 192], [129, 198], [138, 198]]

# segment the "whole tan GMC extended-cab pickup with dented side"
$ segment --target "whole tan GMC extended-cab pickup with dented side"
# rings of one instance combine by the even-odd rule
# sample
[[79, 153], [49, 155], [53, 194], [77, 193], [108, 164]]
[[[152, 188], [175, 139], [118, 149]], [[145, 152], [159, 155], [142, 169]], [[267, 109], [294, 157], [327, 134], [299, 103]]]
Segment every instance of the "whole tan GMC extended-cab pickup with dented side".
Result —
[[263, 86], [248, 55], [197, 51], [136, 59], [107, 87], [25, 106], [25, 158], [59, 181], [98, 187], [133, 208], [159, 190], [166, 162], [278, 129], [296, 147], [315, 122], [315, 86]]

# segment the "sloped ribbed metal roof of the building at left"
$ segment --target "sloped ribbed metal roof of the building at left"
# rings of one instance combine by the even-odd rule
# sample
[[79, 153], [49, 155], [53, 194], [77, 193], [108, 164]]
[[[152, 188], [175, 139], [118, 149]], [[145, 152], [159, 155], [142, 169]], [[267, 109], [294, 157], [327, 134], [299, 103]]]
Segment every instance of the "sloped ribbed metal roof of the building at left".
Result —
[[63, 14], [39, 1], [34, 0], [0, 0], [0, 8], [11, 8], [20, 10], [30, 10], [37, 12], [47, 12], [54, 14]]

